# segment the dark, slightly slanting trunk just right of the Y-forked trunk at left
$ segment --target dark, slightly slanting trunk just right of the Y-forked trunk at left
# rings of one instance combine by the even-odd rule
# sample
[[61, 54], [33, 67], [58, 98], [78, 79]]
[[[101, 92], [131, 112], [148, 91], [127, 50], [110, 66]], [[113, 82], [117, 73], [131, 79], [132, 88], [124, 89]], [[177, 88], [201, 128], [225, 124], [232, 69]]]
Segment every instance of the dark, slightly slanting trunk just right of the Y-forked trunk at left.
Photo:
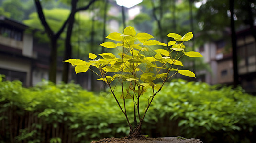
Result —
[[[66, 40], [65, 40], [65, 51], [64, 51], [64, 60], [68, 60], [72, 58], [72, 46], [71, 46], [71, 35], [73, 30], [73, 24], [75, 22], [75, 13], [76, 13], [76, 7], [77, 7], [78, 0], [72, 0], [71, 1], [71, 13], [70, 13], [70, 19], [68, 22], [67, 27], [67, 34], [66, 34]], [[62, 81], [64, 83], [68, 83], [68, 74], [69, 74], [70, 66], [67, 62], [63, 63], [63, 70], [62, 70]]]

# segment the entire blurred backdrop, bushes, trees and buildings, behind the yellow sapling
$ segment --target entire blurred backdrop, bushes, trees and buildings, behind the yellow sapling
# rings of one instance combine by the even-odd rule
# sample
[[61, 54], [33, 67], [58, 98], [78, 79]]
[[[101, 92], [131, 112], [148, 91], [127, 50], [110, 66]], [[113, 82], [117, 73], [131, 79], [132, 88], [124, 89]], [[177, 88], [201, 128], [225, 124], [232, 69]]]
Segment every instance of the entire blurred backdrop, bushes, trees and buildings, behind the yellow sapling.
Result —
[[[165, 84], [145, 116], [143, 134], [256, 143], [255, 4], [0, 0], [0, 143], [90, 143], [126, 136], [129, 127], [104, 84], [92, 72], [75, 74], [62, 61], [111, 52], [99, 44], [127, 26], [165, 43], [171, 41], [168, 33], [192, 31], [186, 51], [203, 55], [181, 60], [197, 78], [177, 75]], [[150, 96], [145, 93], [141, 105]], [[132, 111], [128, 103], [129, 117]]]

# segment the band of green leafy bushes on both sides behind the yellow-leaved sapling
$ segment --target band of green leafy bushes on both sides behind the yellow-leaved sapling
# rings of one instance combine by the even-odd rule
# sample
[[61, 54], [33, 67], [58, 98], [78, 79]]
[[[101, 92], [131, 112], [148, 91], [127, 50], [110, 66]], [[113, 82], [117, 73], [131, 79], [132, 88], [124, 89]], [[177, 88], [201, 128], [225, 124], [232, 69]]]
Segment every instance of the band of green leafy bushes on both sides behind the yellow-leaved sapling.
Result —
[[[145, 93], [143, 97], [141, 110], [144, 110], [143, 105], [147, 104], [150, 95]], [[14, 118], [10, 116], [10, 109], [15, 109], [13, 114], [20, 116], [17, 120], [25, 119], [28, 112], [40, 120], [33, 120], [31, 126], [23, 123], [19, 125], [21, 128], [11, 128], [9, 125]], [[133, 109], [128, 109], [127, 112], [132, 113]], [[130, 117], [133, 116], [130, 114]], [[255, 121], [256, 97], [245, 94], [241, 88], [173, 80], [153, 100], [142, 133], [150, 137], [198, 138], [204, 143], [250, 143], [255, 142]], [[24, 88], [19, 81], [1, 81], [2, 143], [11, 141], [12, 132], [17, 133], [13, 136], [15, 142], [43, 142], [48, 128], [40, 123], [46, 123], [51, 131], [67, 126], [59, 131], [61, 133], [46, 134], [51, 143], [68, 143], [61, 136], [65, 132], [71, 132], [72, 142], [69, 143], [123, 137], [129, 132], [125, 117], [108, 92], [89, 92], [72, 83], [53, 85], [42, 82], [36, 87]], [[33, 130], [35, 126], [37, 130]], [[12, 131], [15, 129], [19, 131]]]

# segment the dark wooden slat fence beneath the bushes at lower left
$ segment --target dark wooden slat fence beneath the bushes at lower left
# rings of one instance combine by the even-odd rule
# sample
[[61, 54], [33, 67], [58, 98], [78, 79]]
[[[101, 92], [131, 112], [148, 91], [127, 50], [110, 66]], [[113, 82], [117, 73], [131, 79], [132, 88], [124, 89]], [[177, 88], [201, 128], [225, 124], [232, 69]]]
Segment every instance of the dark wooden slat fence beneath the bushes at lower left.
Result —
[[[0, 143], [50, 143], [60, 138], [62, 143], [75, 143], [74, 130], [64, 123], [47, 123], [39, 118], [39, 111], [25, 111], [17, 106], [2, 108], [0, 112]], [[3, 111], [4, 110], [4, 111]]]

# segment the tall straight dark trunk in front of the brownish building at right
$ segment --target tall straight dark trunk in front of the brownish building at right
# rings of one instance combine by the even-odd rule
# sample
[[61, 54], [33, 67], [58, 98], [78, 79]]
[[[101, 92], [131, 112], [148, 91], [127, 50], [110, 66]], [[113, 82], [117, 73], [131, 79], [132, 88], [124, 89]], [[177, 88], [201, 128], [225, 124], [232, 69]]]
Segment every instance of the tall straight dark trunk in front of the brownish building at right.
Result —
[[229, 0], [229, 10], [231, 13], [230, 28], [231, 28], [231, 41], [232, 41], [232, 60], [233, 60], [233, 85], [237, 87], [238, 81], [238, 68], [237, 68], [237, 45], [236, 45], [236, 33], [234, 24], [234, 0]]

